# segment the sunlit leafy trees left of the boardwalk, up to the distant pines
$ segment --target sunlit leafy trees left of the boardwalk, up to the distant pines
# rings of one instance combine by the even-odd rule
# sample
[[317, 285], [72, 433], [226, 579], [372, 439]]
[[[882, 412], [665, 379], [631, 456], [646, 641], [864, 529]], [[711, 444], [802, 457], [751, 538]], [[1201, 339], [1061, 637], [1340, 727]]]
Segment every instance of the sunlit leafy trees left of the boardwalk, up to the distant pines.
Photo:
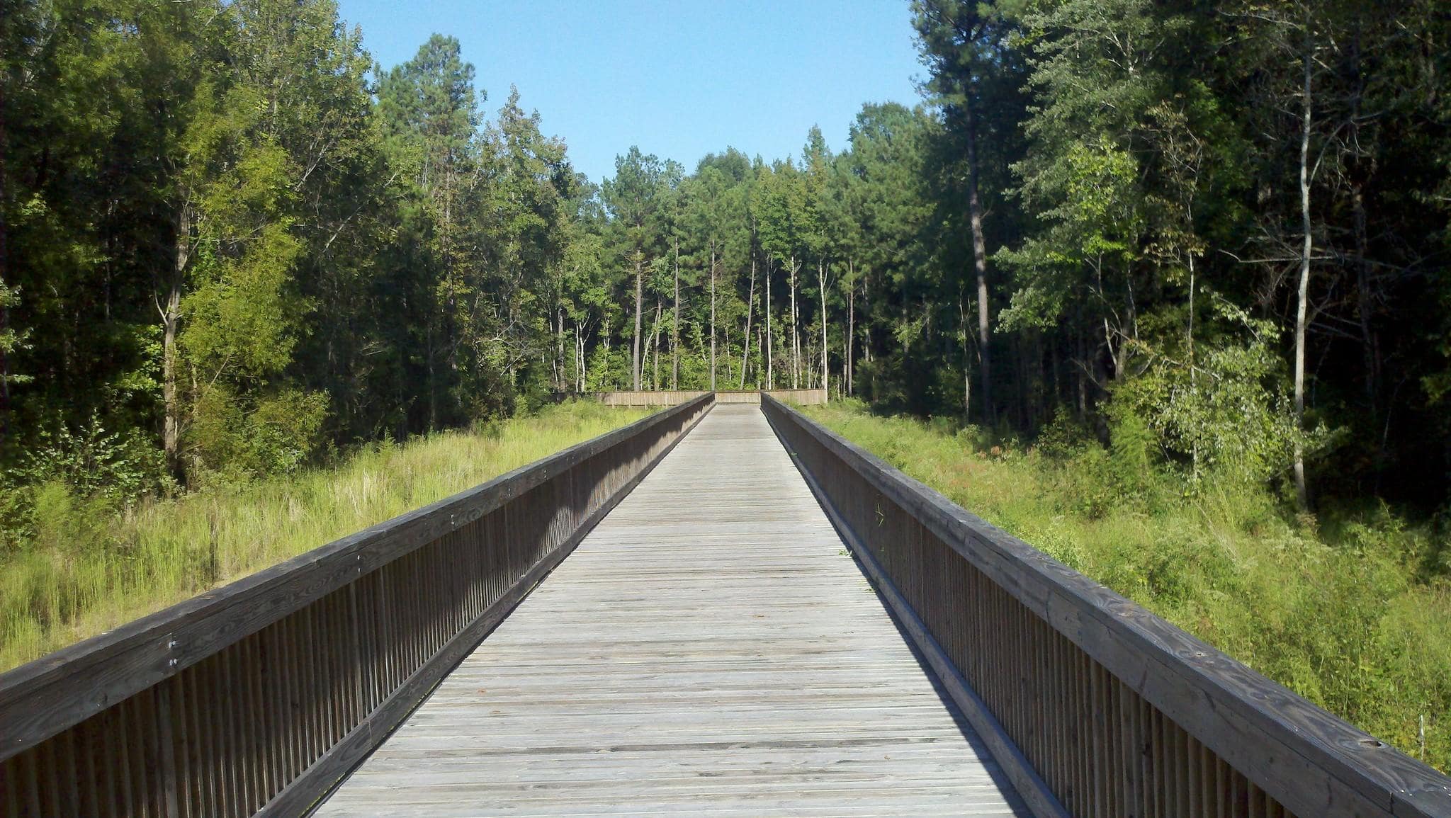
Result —
[[382, 71], [328, 0], [4, 6], [10, 506], [289, 471], [547, 387], [588, 193], [518, 94], [485, 117], [456, 39]]

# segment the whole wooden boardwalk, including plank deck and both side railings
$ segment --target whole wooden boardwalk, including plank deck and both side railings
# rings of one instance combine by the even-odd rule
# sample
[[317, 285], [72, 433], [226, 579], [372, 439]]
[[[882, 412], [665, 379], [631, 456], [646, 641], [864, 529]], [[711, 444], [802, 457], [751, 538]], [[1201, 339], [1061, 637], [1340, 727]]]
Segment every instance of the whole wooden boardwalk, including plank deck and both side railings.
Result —
[[0, 676], [0, 811], [1451, 815], [1451, 779], [755, 400]]

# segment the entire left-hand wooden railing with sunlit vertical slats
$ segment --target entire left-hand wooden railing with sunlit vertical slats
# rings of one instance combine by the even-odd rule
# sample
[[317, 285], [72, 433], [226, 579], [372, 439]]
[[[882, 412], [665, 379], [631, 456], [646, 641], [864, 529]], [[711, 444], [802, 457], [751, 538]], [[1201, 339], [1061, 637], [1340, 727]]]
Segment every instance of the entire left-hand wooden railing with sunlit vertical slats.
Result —
[[711, 403], [695, 397], [0, 676], [0, 814], [305, 812]]

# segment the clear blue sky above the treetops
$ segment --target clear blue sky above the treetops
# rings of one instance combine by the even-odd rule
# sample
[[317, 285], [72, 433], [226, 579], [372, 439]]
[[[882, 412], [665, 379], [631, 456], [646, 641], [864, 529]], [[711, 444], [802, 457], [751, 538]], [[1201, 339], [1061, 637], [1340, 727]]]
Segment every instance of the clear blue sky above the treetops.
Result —
[[546, 133], [599, 181], [640, 145], [686, 171], [727, 145], [800, 155], [811, 125], [831, 149], [863, 102], [918, 100], [907, 0], [340, 0], [385, 68], [432, 32], [459, 38], [492, 117], [519, 88]]

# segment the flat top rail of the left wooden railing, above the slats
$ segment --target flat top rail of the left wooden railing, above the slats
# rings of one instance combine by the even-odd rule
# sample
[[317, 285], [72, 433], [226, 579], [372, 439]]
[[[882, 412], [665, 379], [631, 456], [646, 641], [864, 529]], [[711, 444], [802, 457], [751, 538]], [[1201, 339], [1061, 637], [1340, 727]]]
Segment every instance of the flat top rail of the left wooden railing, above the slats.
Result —
[[705, 393], [663, 409], [0, 674], [0, 760], [711, 399]]

